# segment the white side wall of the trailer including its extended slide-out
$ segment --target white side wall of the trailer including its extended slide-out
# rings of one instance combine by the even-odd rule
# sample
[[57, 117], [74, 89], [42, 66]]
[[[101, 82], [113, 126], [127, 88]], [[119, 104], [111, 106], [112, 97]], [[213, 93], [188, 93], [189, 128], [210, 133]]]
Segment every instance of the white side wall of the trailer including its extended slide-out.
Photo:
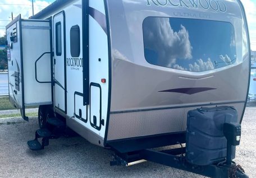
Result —
[[[19, 16], [7, 26], [8, 46], [12, 45], [12, 48], [8, 49], [11, 54], [8, 62], [10, 100], [13, 105], [21, 109], [25, 120], [28, 120], [25, 116], [25, 107], [53, 104], [54, 111], [68, 118], [66, 121], [70, 128], [81, 135], [86, 135], [86, 138], [99, 137], [93, 142], [103, 146], [109, 92], [107, 29], [102, 29], [92, 16], [89, 17], [89, 36], [93, 40], [88, 44], [90, 46], [88, 58], [95, 60], [88, 62], [87, 75], [90, 76], [88, 82], [90, 85], [85, 88], [83, 85], [85, 82], [83, 82], [82, 1], [57, 1], [56, 3], [62, 6], [54, 7], [53, 12], [45, 13], [40, 20], [23, 20]], [[90, 10], [96, 11], [96, 16], [104, 17], [104, 1], [90, 2]], [[21, 28], [20, 24], [22, 24]], [[15, 27], [17, 43], [10, 39]], [[71, 31], [73, 34], [70, 34]], [[75, 43], [78, 41], [79, 44], [74, 44], [75, 48], [73, 46], [71, 49], [70, 44], [74, 43], [71, 41], [73, 37], [76, 39]], [[22, 44], [20, 38], [22, 38]], [[41, 55], [42, 58], [39, 58]], [[20, 90], [17, 90], [13, 73], [19, 70]], [[102, 83], [102, 79], [106, 82]], [[90, 105], [84, 105], [84, 90], [90, 91], [90, 96], [88, 95], [87, 98], [90, 97], [91, 100], [86, 101], [90, 102]], [[85, 128], [88, 132], [84, 132]]]

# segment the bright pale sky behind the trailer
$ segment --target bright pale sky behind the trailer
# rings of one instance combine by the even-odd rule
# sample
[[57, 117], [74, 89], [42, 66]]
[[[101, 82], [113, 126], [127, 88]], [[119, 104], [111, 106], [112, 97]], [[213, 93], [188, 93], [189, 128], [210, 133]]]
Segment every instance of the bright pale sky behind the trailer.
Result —
[[[34, 0], [34, 13], [39, 12], [54, 0]], [[256, 0], [241, 0], [248, 18], [252, 50], [256, 50]], [[15, 5], [14, 5], [15, 4]], [[32, 15], [31, 0], [0, 0], [0, 36], [4, 35], [5, 26], [13, 17], [21, 13], [22, 18]]]

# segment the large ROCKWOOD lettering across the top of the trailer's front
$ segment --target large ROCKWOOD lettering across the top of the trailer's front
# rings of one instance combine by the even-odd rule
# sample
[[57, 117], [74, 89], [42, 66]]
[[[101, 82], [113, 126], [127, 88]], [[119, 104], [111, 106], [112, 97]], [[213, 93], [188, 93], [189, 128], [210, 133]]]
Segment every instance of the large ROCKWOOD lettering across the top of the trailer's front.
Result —
[[225, 3], [217, 0], [147, 0], [148, 6], [175, 6], [186, 8], [203, 8], [205, 10], [213, 10], [226, 12], [227, 6]]

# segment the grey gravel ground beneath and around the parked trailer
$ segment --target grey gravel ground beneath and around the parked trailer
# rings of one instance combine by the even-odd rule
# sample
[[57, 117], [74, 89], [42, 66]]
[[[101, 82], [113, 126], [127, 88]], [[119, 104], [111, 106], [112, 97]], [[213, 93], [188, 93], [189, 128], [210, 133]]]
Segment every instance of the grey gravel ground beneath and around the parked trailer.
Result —
[[[256, 177], [256, 107], [247, 107], [236, 162]], [[26, 146], [34, 139], [37, 118], [0, 119], [0, 177], [203, 177], [153, 162], [130, 167], [109, 166], [112, 152], [81, 137], [50, 140], [42, 151]]]

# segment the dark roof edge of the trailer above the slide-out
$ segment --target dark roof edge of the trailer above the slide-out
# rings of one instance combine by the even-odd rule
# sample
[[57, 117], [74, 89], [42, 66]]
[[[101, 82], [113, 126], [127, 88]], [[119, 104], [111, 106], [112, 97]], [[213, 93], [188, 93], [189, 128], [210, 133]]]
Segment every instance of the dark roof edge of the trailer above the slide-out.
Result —
[[49, 13], [56, 11], [61, 6], [65, 5], [66, 3], [70, 2], [70, 0], [56, 0], [51, 3], [49, 6], [45, 7], [42, 11], [36, 13], [36, 15], [29, 17], [30, 19], [39, 19]]

